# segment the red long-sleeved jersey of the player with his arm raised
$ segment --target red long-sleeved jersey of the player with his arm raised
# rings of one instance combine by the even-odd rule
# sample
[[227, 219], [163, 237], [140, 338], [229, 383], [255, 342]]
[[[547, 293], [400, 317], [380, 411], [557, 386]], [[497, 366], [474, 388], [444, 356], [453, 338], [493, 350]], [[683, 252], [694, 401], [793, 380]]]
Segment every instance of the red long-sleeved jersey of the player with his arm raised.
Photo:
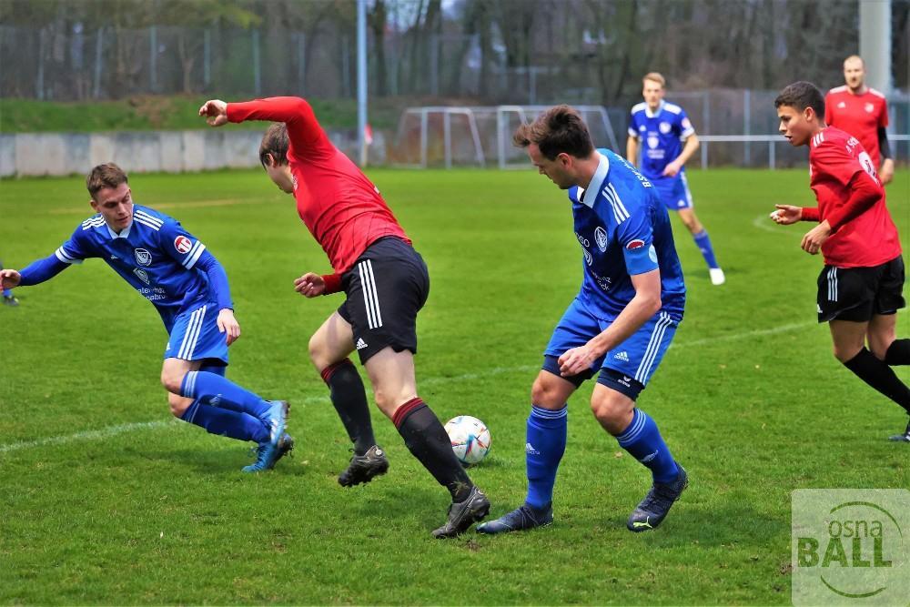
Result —
[[410, 244], [379, 189], [329, 141], [304, 99], [270, 97], [227, 104], [227, 119], [271, 120], [288, 126], [288, 165], [297, 211], [335, 272], [348, 271], [370, 244], [384, 236]]

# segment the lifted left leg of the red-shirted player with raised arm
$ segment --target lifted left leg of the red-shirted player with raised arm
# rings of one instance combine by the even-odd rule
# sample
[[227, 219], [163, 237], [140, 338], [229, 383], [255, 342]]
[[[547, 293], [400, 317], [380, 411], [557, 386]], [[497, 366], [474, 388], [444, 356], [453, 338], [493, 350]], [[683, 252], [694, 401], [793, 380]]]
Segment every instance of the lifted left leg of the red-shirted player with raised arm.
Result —
[[[345, 305], [339, 310], [343, 312]], [[332, 406], [354, 444], [351, 466], [339, 476], [339, 483], [345, 487], [368, 482], [389, 469], [389, 461], [373, 435], [363, 381], [348, 358], [352, 351], [353, 329], [339, 312], [333, 312], [309, 339], [309, 359], [329, 387]]]

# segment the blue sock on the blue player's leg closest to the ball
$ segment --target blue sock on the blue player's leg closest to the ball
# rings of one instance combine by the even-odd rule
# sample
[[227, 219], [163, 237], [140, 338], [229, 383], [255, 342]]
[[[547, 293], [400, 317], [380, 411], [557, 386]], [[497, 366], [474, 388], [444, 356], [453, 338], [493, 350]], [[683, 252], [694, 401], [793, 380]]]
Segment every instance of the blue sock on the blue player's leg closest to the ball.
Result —
[[531, 405], [525, 442], [525, 467], [528, 471], [528, 498], [534, 508], [544, 508], [553, 501], [553, 483], [566, 450], [566, 420], [569, 408], [549, 410]]

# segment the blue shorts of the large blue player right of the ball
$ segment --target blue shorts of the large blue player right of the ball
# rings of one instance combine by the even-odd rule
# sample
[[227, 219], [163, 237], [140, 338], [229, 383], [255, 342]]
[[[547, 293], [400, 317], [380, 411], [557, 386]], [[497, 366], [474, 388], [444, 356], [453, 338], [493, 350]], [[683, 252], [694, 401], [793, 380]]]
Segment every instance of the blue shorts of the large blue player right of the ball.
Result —
[[[680, 319], [674, 317], [675, 315], [660, 310], [632, 333], [629, 339], [604, 354], [601, 359], [595, 360], [591, 371], [613, 369], [646, 386], [676, 334]], [[583, 346], [611, 323], [612, 320], [594, 317], [576, 298], [562, 315], [560, 324], [553, 329], [553, 336], [544, 355], [559, 357], [568, 349]]]

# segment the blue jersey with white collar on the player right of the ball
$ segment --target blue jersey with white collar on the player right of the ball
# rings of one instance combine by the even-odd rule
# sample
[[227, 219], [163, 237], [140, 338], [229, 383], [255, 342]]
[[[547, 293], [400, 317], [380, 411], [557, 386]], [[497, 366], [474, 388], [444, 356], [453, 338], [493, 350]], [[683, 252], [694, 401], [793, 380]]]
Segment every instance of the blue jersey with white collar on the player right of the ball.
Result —
[[631, 277], [660, 269], [662, 311], [679, 321], [685, 283], [667, 209], [625, 158], [597, 151], [601, 162], [589, 187], [569, 189], [584, 254], [578, 298], [596, 317], [615, 319], [635, 296]]

